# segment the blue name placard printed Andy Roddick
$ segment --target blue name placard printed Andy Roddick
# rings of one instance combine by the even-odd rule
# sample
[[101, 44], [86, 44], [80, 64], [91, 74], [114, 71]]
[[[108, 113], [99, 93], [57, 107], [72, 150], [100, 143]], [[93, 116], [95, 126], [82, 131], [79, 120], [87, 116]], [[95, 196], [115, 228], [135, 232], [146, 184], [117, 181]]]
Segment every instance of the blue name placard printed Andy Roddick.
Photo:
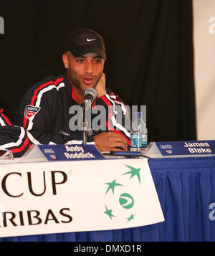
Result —
[[104, 156], [94, 145], [37, 145], [34, 146], [25, 158], [43, 159], [44, 161], [80, 161], [100, 160]]

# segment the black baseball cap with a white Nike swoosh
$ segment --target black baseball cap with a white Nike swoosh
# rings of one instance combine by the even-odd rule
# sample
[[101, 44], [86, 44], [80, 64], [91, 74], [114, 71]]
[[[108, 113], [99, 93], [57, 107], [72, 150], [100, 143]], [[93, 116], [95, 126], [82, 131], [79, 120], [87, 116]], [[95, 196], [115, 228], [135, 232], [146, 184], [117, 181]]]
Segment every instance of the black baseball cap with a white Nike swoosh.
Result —
[[70, 51], [75, 57], [94, 52], [106, 60], [105, 44], [102, 37], [92, 29], [76, 29], [67, 34], [63, 52]]

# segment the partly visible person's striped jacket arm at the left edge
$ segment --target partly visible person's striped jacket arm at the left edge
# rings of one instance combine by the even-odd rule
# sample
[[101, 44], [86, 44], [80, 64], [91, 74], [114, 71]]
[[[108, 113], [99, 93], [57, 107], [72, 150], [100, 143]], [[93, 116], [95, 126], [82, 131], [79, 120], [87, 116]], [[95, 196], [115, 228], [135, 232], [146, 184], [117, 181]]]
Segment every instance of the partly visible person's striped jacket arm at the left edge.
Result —
[[0, 150], [9, 149], [14, 157], [22, 156], [31, 146], [27, 131], [23, 127], [12, 125], [0, 107]]

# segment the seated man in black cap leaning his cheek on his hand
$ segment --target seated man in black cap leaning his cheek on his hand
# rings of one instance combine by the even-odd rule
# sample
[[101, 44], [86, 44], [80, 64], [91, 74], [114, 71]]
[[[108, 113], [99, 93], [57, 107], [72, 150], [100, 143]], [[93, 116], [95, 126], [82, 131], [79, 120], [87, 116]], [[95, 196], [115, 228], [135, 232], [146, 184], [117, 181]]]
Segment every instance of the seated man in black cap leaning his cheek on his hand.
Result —
[[105, 87], [105, 60], [105, 44], [99, 34], [91, 29], [68, 34], [62, 54], [67, 73], [37, 82], [16, 110], [15, 123], [27, 129], [32, 143], [82, 143], [82, 131], [71, 128], [70, 120], [75, 114], [70, 110], [82, 105], [85, 90], [92, 87], [97, 91], [92, 109], [102, 105], [106, 120], [105, 129], [96, 131], [92, 127], [87, 142], [95, 143], [100, 151], [127, 150], [130, 132], [125, 129], [125, 122], [118, 123], [115, 108], [123, 108], [123, 120], [128, 113], [122, 100]]

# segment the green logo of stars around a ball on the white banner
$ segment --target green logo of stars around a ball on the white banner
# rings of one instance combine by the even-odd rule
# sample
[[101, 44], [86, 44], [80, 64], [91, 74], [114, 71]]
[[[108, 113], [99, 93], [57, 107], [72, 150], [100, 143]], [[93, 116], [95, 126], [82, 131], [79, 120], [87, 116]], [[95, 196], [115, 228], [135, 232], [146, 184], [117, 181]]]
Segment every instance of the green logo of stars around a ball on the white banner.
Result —
[[[140, 169], [125, 165], [128, 171], [105, 183], [105, 212], [110, 221], [130, 222], [138, 217], [136, 199], [141, 189]], [[125, 169], [125, 170], [126, 170]]]

